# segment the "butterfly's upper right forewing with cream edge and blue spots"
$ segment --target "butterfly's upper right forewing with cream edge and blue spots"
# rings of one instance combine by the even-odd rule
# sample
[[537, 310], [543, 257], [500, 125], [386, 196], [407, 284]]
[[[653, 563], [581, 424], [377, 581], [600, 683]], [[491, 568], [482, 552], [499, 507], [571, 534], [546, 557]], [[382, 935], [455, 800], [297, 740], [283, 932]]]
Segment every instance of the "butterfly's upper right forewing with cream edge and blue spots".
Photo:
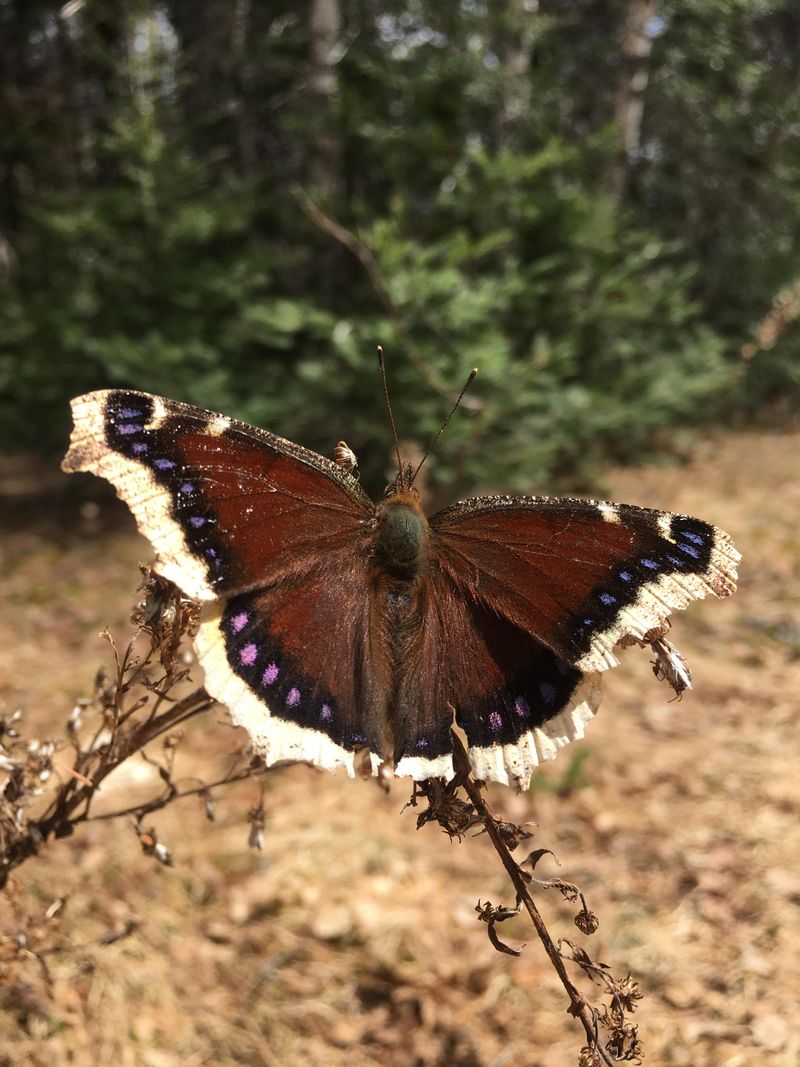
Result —
[[442, 573], [469, 602], [583, 672], [662, 628], [670, 611], [736, 588], [726, 534], [687, 515], [548, 497], [480, 497], [431, 519]]

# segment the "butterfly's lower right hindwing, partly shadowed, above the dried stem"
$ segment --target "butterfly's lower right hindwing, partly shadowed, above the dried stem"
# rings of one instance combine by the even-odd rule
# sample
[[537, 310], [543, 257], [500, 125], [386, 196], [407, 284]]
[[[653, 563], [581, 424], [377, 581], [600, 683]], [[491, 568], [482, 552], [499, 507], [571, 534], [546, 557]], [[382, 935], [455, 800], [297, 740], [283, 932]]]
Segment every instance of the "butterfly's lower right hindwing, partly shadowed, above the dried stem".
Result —
[[420, 625], [394, 705], [397, 773], [452, 774], [453, 714], [478, 777], [527, 789], [533, 769], [581, 737], [599, 702], [585, 676], [525, 630], [450, 580], [433, 560]]

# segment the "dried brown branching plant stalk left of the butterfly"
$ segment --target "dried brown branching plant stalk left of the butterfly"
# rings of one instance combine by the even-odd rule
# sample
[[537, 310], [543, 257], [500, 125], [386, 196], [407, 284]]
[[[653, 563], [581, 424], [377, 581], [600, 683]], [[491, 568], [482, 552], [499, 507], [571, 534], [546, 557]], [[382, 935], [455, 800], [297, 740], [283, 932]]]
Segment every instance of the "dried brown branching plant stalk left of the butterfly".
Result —
[[[260, 759], [239, 753], [235, 764], [213, 782], [183, 786], [173, 777], [178, 727], [214, 706], [204, 688], [189, 692], [189, 668], [181, 643], [191, 637], [197, 606], [170, 582], [143, 568], [141, 601], [134, 608], [133, 636], [121, 654], [105, 633], [114, 671], [99, 671], [91, 698], [80, 700], [67, 719], [68, 742], [39, 742], [21, 734], [21, 714], [0, 720], [0, 888], [27, 859], [47, 842], [69, 837], [92, 819], [130, 816], [135, 821], [142, 847], [167, 862], [166, 846], [153, 830], [142, 832], [142, 819], [166, 805], [188, 796], [202, 796], [206, 811], [212, 791], [230, 782], [265, 773]], [[91, 721], [90, 721], [91, 720]], [[84, 724], [85, 723], [85, 724]], [[92, 803], [101, 783], [126, 761], [143, 755], [146, 748], [164, 739], [162, 762], [157, 762], [161, 791], [151, 799], [116, 811], [94, 814]], [[65, 767], [64, 755], [71, 751]], [[42, 797], [49, 790], [44, 810]], [[154, 839], [150, 845], [148, 835]]]

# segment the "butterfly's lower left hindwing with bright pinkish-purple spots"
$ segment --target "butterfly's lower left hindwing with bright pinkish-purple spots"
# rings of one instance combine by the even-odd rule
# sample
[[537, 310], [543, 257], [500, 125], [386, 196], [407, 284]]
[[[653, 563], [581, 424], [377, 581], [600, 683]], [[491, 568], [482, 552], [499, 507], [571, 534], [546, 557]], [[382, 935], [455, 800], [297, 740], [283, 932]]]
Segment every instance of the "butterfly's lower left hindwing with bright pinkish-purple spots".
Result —
[[209, 691], [268, 764], [308, 760], [354, 774], [385, 750], [390, 665], [367, 571], [343, 552], [317, 571], [204, 609], [196, 647]]

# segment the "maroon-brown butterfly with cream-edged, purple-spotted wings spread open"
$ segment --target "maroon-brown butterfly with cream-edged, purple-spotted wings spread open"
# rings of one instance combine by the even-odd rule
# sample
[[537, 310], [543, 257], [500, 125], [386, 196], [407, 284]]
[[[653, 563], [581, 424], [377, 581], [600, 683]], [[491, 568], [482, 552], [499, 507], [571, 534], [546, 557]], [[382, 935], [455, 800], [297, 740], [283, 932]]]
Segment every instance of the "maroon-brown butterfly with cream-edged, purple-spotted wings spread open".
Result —
[[410, 465], [375, 504], [343, 442], [337, 462], [131, 389], [73, 413], [63, 468], [107, 478], [203, 602], [206, 688], [268, 764], [450, 777], [454, 720], [478, 778], [526, 789], [583, 735], [619, 646], [736, 588], [738, 552], [699, 519], [543, 496], [428, 517]]

